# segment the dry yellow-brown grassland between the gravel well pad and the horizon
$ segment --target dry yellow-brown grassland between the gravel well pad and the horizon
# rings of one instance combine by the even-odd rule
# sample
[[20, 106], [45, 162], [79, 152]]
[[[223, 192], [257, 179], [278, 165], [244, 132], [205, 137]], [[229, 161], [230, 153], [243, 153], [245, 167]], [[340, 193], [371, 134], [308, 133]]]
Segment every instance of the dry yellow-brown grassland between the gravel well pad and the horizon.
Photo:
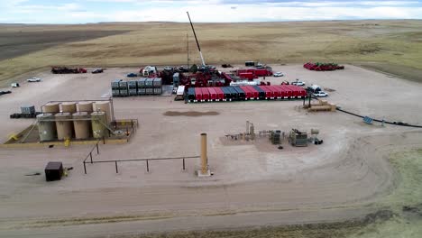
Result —
[[[422, 21], [197, 23], [196, 29], [206, 62], [211, 64], [248, 59], [272, 64], [336, 61], [422, 80]], [[19, 32], [35, 35], [41, 32], [53, 43], [46, 41], [27, 49], [16, 46], [14, 55], [2, 57], [3, 84], [19, 79], [16, 77], [25, 72], [51, 65], [186, 64], [187, 33], [191, 62], [199, 62], [188, 23], [0, 25], [0, 35]], [[9, 50], [8, 45], [16, 40], [2, 39], [0, 47]], [[19, 43], [33, 41], [36, 39], [29, 37]]]

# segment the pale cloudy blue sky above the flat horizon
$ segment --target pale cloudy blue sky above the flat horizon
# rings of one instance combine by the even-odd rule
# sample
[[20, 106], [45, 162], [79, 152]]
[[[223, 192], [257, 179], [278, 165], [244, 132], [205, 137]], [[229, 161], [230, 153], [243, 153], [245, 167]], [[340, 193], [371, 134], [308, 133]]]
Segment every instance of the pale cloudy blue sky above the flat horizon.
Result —
[[422, 1], [0, 0], [0, 23], [195, 23], [422, 19]]

